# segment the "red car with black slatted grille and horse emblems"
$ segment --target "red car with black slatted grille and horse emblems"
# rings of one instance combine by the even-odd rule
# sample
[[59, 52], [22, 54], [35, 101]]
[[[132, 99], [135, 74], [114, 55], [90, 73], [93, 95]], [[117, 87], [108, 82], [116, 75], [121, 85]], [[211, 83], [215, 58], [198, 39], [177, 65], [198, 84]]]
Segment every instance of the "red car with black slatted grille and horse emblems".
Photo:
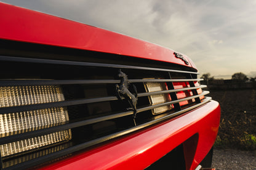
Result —
[[1, 169], [195, 169], [212, 149], [220, 107], [185, 55], [4, 3], [0, 22]]

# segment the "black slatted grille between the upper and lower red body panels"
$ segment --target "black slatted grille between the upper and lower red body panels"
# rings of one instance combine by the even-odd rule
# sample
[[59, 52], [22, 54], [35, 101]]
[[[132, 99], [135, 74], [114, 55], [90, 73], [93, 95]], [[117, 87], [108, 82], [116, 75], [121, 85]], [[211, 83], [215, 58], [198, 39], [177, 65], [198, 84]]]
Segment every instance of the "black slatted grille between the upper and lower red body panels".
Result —
[[[30, 85], [60, 85], [65, 101], [31, 104], [25, 106], [2, 107], [0, 114], [26, 110], [66, 107], [69, 122], [50, 128], [1, 137], [0, 145], [44, 134], [71, 129], [72, 139], [59, 145], [50, 145], [39, 150], [2, 158], [1, 168], [30, 168], [56, 158], [63, 158], [74, 152], [124, 136], [147, 126], [154, 125], [210, 101], [208, 91], [198, 93], [197, 72], [174, 69], [146, 68], [111, 63], [88, 63], [78, 61], [44, 60], [0, 56], [1, 87]], [[137, 88], [137, 116], [127, 99], [119, 100], [116, 85], [120, 83], [119, 71], [128, 76], [129, 90]], [[167, 90], [146, 92], [146, 82], [164, 82]], [[175, 83], [186, 83], [186, 87], [175, 88]], [[185, 98], [178, 98], [183, 91]], [[172, 101], [152, 105], [148, 96], [170, 94]], [[181, 104], [187, 101], [187, 104]], [[172, 105], [174, 108], [162, 114], [153, 115], [151, 109]]]

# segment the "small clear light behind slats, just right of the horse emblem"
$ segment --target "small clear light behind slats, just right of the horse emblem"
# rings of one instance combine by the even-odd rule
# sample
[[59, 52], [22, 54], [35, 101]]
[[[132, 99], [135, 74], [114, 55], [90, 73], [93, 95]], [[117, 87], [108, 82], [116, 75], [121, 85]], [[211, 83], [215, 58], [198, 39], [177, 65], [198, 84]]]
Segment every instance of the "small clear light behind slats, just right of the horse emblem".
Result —
[[[168, 90], [165, 82], [146, 82], [144, 83], [144, 85], [146, 88], [146, 92]], [[164, 102], [171, 101], [169, 93], [165, 93], [161, 95], [151, 95], [151, 96], [148, 96], [148, 98], [150, 99], [151, 105], [162, 104]], [[170, 109], [172, 109], [172, 105], [156, 107], [152, 109], [152, 114], [153, 115], [161, 114], [162, 112], [166, 112], [167, 110], [170, 110]]]

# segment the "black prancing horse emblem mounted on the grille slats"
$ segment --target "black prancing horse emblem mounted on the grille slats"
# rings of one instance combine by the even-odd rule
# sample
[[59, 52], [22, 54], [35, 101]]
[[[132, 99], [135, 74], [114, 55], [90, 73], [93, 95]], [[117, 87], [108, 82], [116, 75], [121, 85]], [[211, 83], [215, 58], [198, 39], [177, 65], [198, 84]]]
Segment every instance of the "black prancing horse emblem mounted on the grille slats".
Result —
[[[138, 101], [138, 93], [137, 93], [137, 88], [135, 87], [135, 85], [133, 85], [134, 87], [134, 91], [135, 91], [135, 95], [133, 95], [132, 93], [130, 93], [129, 91], [129, 82], [128, 82], [128, 78], [127, 75], [124, 74], [124, 72], [121, 71], [121, 69], [119, 69], [119, 74], [118, 77], [120, 77], [121, 82], [118, 84], [116, 84], [116, 96], [118, 97], [119, 100], [122, 100], [121, 97], [124, 97], [125, 99], [128, 100], [130, 106], [132, 109], [134, 110], [134, 123], [135, 123], [135, 118], [136, 118], [136, 114], [137, 114], [137, 101]], [[135, 123], [136, 125], [136, 123]]]

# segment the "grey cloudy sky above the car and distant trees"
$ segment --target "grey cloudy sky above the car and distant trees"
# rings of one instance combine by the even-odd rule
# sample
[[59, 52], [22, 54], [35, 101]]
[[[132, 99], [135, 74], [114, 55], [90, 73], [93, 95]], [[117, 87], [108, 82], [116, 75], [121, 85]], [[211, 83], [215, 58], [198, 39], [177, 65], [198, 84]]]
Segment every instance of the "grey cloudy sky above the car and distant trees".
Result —
[[[189, 56], [201, 74], [256, 76], [254, 0], [6, 0]], [[222, 76], [220, 76], [222, 75]], [[226, 75], [226, 76], [225, 76]]]

